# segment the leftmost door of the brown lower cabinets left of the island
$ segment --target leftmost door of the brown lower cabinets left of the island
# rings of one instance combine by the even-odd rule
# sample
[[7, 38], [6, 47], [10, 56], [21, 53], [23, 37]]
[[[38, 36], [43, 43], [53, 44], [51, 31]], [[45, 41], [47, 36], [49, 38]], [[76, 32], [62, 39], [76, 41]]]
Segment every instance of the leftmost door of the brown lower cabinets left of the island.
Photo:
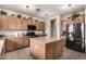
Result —
[[5, 52], [15, 50], [15, 41], [14, 40], [5, 40]]

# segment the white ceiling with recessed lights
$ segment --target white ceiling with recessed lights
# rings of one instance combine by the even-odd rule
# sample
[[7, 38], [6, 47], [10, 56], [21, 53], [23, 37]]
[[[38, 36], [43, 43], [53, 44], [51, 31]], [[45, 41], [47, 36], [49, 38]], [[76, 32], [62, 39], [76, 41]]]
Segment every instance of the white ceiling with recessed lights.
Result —
[[[27, 8], [26, 8], [27, 7]], [[84, 10], [84, 4], [0, 4], [1, 9], [20, 12], [40, 18], [64, 15]]]

